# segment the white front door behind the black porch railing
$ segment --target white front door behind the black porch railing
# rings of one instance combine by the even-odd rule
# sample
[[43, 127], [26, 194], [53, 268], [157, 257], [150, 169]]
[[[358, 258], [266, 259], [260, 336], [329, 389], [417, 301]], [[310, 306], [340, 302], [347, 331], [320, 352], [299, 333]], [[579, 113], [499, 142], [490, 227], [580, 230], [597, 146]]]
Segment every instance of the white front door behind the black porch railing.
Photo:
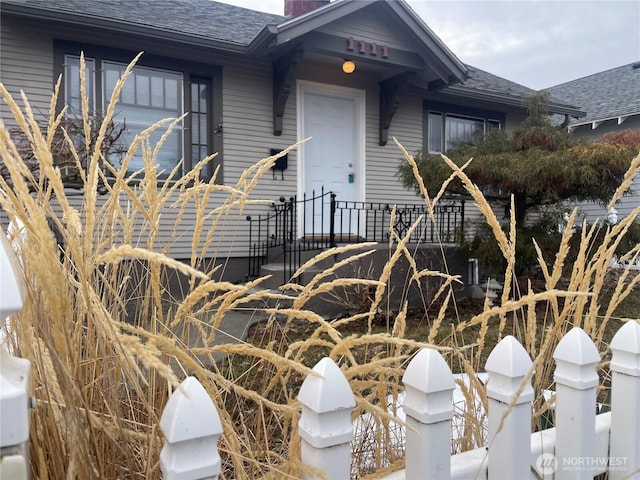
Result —
[[[311, 137], [301, 148], [299, 183], [306, 198], [324, 192], [336, 200], [356, 202], [364, 193], [364, 93], [359, 90], [323, 88], [303, 84], [300, 138]], [[302, 195], [299, 195], [302, 198]], [[302, 235], [329, 233], [329, 195], [314, 205], [307, 202]], [[356, 211], [350, 218], [336, 217], [335, 233], [356, 233]]]

